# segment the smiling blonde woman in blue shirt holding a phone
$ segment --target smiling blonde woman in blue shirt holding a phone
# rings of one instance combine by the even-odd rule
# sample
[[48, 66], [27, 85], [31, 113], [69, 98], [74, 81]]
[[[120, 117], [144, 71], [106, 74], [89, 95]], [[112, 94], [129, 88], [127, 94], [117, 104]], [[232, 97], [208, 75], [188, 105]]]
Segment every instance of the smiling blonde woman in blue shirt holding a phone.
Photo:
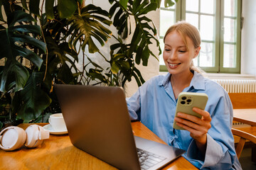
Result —
[[[203, 77], [193, 66], [201, 47], [196, 27], [184, 21], [167, 30], [164, 36], [164, 62], [168, 74], [153, 77], [127, 98], [131, 120], [141, 120], [167, 144], [186, 150], [183, 157], [198, 169], [241, 169], [231, 132], [233, 106], [222, 86]], [[178, 113], [181, 91], [205, 93], [205, 111], [193, 108], [202, 118]], [[173, 128], [177, 125], [185, 130]]]

